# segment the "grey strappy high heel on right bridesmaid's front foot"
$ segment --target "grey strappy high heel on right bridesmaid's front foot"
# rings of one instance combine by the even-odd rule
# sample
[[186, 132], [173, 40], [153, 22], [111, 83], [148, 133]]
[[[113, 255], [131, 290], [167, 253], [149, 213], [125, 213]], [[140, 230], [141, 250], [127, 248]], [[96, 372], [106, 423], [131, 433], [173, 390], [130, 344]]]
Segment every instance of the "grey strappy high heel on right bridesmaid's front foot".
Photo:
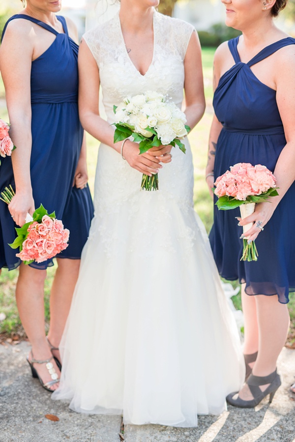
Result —
[[[265, 391], [262, 391], [259, 386], [266, 385], [267, 383], [269, 383], [268, 387]], [[239, 396], [234, 399], [234, 396], [238, 393], [238, 391], [236, 391], [235, 393], [231, 393], [227, 396], [226, 400], [229, 404], [233, 405], [234, 407], [253, 408], [256, 407], [256, 405], [258, 405], [268, 394], [269, 403], [271, 403], [274, 393], [281, 385], [281, 378], [277, 374], [276, 370], [268, 376], [254, 376], [251, 374], [246, 381], [246, 384], [249, 386], [253, 399], [250, 401], [245, 401]]]

